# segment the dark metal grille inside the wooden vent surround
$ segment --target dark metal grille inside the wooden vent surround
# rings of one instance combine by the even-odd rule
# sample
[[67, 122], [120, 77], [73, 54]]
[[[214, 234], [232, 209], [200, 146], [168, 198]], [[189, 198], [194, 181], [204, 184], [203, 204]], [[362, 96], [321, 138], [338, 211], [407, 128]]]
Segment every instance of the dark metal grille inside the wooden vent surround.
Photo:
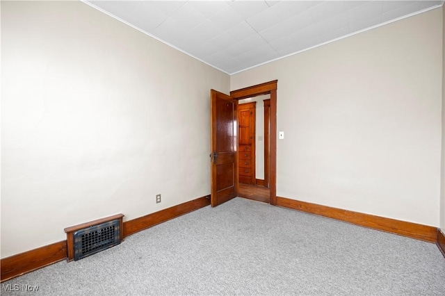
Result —
[[74, 261], [120, 244], [119, 220], [74, 231]]

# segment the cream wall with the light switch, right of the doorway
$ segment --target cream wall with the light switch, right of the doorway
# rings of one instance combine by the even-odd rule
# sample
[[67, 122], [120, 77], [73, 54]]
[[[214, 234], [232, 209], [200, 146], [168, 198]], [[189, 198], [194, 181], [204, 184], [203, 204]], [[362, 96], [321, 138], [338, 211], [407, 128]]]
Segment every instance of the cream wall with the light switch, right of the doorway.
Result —
[[442, 8], [231, 76], [278, 80], [277, 195], [439, 227]]

